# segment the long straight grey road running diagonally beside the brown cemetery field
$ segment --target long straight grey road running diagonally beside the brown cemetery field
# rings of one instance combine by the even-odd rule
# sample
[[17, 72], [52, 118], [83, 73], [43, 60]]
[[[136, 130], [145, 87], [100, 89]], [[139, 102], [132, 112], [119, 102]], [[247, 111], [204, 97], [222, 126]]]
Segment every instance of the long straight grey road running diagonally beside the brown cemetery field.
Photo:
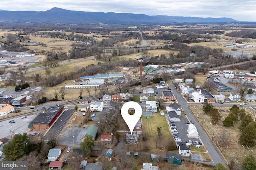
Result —
[[[174, 89], [174, 85], [170, 84], [171, 89]], [[190, 112], [190, 110], [187, 108], [188, 103], [183, 98], [183, 96], [180, 95], [176, 90], [172, 90], [172, 94], [175, 96], [176, 100], [178, 101], [179, 105], [182, 107], [183, 111], [186, 113], [186, 115], [189, 117], [190, 120], [194, 121], [194, 125], [197, 128], [197, 131], [199, 133], [200, 139], [202, 140], [202, 143], [204, 143], [206, 150], [208, 150], [210, 156], [212, 157], [213, 161], [211, 162], [212, 165], [216, 165], [218, 163], [221, 163], [223, 165], [226, 165], [216, 149], [213, 147], [211, 141], [207, 137], [207, 135], [204, 133], [204, 130], [201, 128], [197, 120], [194, 118], [194, 115]]]

